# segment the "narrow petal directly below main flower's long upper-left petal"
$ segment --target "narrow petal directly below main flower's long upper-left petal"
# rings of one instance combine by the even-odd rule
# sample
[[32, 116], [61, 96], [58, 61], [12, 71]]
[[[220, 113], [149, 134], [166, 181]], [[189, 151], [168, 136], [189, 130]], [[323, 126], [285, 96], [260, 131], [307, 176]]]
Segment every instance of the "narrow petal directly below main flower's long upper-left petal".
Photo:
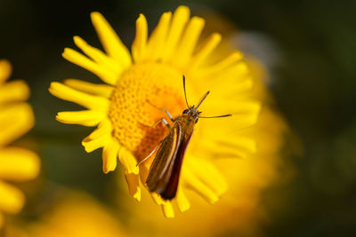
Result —
[[114, 59], [109, 58], [105, 53], [94, 48], [93, 46], [89, 45], [79, 36], [74, 36], [74, 43], [76, 43], [77, 47], [80, 48], [85, 54], [96, 61], [101, 67], [107, 68], [111, 71], [114, 75], [121, 75], [124, 71], [124, 67], [121, 67]]

